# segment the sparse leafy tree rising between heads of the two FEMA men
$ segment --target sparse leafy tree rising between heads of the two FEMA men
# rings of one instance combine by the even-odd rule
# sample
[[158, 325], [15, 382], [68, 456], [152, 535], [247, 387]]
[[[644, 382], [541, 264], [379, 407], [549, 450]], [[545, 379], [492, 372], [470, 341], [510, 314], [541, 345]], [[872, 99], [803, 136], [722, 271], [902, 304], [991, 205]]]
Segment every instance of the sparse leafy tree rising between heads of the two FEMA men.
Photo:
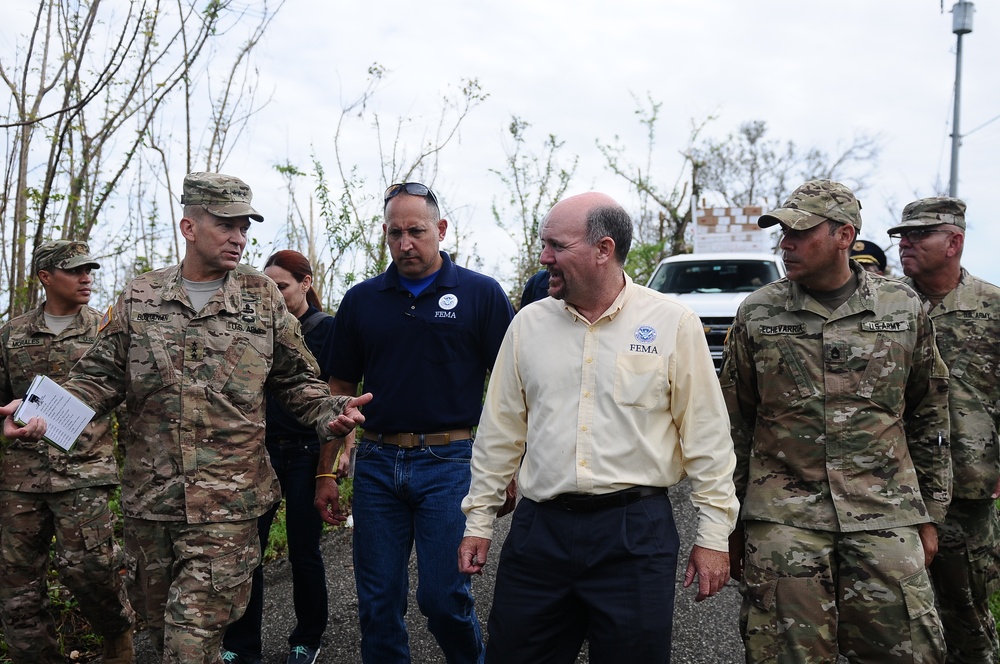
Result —
[[490, 172], [500, 178], [507, 189], [507, 200], [493, 201], [493, 219], [517, 246], [514, 263], [514, 284], [524, 284], [538, 270], [539, 224], [548, 210], [566, 193], [576, 173], [579, 157], [574, 155], [569, 166], [562, 166], [559, 150], [564, 142], [549, 134], [542, 144], [541, 154], [526, 147], [531, 125], [511, 116], [507, 131], [513, 140], [505, 149], [502, 170]]

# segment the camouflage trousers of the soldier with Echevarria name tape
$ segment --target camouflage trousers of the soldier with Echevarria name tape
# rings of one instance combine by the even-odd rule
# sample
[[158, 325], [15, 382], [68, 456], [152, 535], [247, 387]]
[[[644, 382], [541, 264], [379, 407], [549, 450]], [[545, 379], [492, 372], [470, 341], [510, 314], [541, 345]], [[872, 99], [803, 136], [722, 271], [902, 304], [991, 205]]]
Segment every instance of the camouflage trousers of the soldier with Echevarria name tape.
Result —
[[916, 526], [857, 533], [746, 524], [748, 664], [941, 664], [941, 621]]

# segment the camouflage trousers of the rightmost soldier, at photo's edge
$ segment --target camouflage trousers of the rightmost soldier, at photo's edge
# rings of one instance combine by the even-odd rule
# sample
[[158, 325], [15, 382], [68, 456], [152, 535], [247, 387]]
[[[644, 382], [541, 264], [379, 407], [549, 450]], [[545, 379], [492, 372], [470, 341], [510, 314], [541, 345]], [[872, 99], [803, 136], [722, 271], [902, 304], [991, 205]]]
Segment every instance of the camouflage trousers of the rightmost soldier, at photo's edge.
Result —
[[1000, 646], [989, 599], [1000, 589], [1000, 516], [993, 501], [952, 500], [938, 547], [931, 579], [948, 662], [995, 664]]

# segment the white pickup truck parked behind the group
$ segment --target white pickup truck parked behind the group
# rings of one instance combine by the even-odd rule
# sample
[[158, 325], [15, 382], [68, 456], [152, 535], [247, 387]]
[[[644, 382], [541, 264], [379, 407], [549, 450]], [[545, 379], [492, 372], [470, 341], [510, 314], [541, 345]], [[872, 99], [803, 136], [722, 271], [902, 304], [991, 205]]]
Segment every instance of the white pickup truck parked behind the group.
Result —
[[749, 293], [785, 276], [785, 264], [775, 254], [679, 254], [660, 261], [646, 284], [686, 304], [701, 318], [716, 372], [722, 367], [722, 346]]

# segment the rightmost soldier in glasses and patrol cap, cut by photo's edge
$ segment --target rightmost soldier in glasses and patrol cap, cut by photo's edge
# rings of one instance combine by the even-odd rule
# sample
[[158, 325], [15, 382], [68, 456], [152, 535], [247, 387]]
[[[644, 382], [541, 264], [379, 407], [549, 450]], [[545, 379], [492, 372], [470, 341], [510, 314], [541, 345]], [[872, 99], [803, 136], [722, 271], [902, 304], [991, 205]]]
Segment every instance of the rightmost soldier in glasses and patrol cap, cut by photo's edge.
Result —
[[889, 230], [911, 285], [934, 321], [950, 368], [951, 463], [955, 485], [938, 527], [931, 579], [948, 662], [1000, 661], [989, 598], [1000, 590], [1000, 288], [962, 268], [965, 203], [923, 198]]

